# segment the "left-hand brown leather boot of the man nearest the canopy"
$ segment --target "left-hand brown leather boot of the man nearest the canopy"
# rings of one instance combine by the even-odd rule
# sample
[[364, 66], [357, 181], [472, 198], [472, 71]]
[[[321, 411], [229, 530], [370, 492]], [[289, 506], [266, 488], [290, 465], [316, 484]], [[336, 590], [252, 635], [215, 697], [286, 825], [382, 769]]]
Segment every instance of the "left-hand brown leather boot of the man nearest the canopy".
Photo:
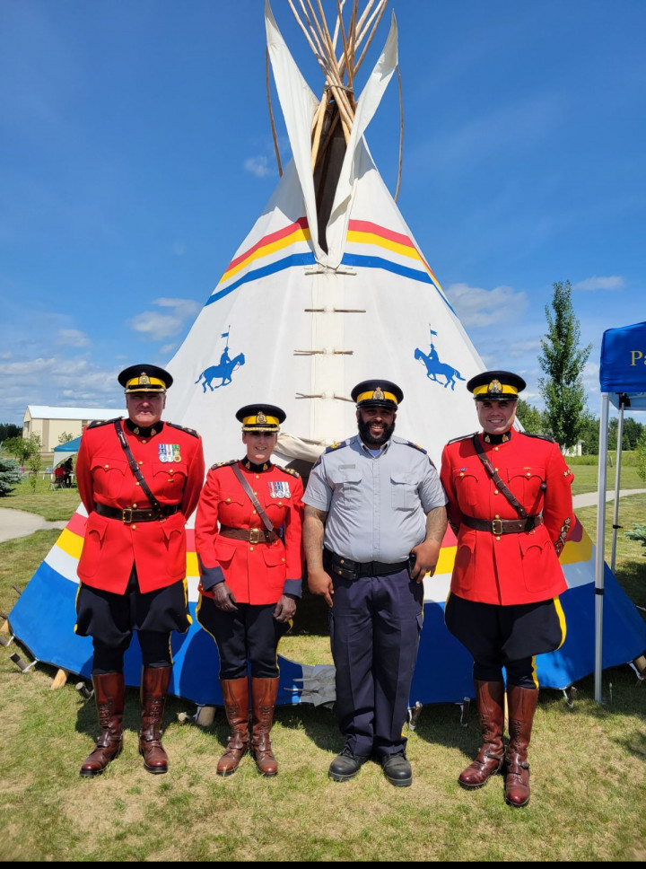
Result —
[[483, 747], [474, 762], [458, 777], [458, 783], [467, 790], [485, 785], [489, 777], [500, 772], [504, 760], [504, 685], [502, 682], [477, 680], [474, 680], [474, 685]]

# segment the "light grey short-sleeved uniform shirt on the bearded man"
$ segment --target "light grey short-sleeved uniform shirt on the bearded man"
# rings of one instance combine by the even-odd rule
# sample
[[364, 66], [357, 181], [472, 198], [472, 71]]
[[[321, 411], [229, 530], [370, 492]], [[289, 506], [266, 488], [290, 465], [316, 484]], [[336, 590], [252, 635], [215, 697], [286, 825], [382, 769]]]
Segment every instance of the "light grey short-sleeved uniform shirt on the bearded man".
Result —
[[328, 447], [305, 504], [327, 513], [323, 544], [354, 561], [405, 561], [426, 537], [426, 513], [447, 497], [427, 452], [393, 436], [373, 456], [358, 434]]

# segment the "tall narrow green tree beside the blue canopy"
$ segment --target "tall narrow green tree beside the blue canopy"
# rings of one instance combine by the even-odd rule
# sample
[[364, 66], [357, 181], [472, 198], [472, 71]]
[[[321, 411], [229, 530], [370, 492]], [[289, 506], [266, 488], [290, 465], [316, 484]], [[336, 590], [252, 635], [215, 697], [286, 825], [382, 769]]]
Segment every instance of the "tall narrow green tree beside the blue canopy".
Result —
[[572, 308], [570, 281], [557, 281], [552, 296], [552, 312], [546, 305], [547, 334], [541, 338], [538, 356], [546, 377], [538, 381], [546, 402], [543, 418], [547, 433], [562, 450], [579, 440], [586, 410], [581, 372], [588, 362], [592, 345], [580, 347], [581, 326]]

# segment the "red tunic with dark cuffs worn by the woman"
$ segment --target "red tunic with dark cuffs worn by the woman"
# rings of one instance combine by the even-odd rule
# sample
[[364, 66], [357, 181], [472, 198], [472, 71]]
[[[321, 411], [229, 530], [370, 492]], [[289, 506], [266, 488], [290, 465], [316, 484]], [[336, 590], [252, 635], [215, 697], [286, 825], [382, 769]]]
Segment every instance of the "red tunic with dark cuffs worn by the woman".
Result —
[[[283, 540], [250, 543], [218, 533], [218, 523], [231, 528], [265, 524], [231, 465], [238, 465], [276, 531]], [[213, 597], [214, 584], [226, 581], [239, 603], [276, 603], [284, 593], [301, 596], [303, 485], [296, 471], [268, 463], [267, 470], [248, 470], [242, 461], [214, 465], [206, 475], [197, 505], [196, 552], [200, 592]]]

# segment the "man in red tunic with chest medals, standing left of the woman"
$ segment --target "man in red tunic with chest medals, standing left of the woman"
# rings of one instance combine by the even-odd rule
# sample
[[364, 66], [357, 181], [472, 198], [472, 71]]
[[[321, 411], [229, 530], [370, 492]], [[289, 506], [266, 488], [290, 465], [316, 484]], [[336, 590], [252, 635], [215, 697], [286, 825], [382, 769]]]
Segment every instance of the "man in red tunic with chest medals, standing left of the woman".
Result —
[[124, 654], [133, 631], [142, 650], [139, 750], [149, 772], [164, 773], [161, 742], [170, 683], [170, 632], [190, 625], [185, 526], [204, 482], [202, 440], [162, 421], [170, 374], [151, 364], [118, 375], [127, 419], [88, 426], [76, 461], [88, 513], [78, 565], [76, 633], [92, 636], [92, 683], [101, 733], [81, 775], [99, 775], [123, 742]]

